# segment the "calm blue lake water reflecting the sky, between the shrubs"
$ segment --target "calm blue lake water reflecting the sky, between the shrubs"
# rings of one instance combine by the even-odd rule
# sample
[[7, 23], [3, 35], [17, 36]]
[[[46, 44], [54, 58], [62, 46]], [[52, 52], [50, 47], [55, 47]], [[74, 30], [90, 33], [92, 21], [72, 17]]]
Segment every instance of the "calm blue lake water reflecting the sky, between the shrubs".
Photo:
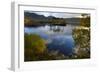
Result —
[[38, 34], [47, 41], [48, 50], [57, 50], [64, 55], [73, 52], [74, 40], [72, 38], [73, 25], [67, 26], [40, 26], [25, 27], [24, 31], [28, 34]]

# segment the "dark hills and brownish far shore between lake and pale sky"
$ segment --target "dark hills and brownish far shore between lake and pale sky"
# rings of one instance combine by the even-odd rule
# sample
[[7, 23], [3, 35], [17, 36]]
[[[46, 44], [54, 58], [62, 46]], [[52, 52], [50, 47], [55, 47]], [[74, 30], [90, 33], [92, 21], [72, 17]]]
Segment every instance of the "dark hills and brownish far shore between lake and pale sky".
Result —
[[44, 15], [38, 15], [36, 13], [24, 12], [24, 22], [25, 26], [40, 26], [44, 25], [43, 23], [52, 23], [58, 25], [80, 24], [80, 18], [57, 18], [54, 16], [45, 17]]

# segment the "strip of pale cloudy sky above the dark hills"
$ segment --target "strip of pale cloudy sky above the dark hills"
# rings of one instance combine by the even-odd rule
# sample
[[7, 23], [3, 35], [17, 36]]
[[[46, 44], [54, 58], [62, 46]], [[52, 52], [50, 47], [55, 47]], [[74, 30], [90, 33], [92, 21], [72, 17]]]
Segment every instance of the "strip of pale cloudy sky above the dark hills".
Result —
[[45, 17], [48, 16], [54, 16], [54, 17], [58, 17], [58, 18], [72, 18], [72, 17], [79, 17], [81, 18], [81, 13], [64, 13], [64, 12], [34, 12], [34, 11], [28, 11], [30, 13], [36, 13], [38, 15], [44, 15]]

